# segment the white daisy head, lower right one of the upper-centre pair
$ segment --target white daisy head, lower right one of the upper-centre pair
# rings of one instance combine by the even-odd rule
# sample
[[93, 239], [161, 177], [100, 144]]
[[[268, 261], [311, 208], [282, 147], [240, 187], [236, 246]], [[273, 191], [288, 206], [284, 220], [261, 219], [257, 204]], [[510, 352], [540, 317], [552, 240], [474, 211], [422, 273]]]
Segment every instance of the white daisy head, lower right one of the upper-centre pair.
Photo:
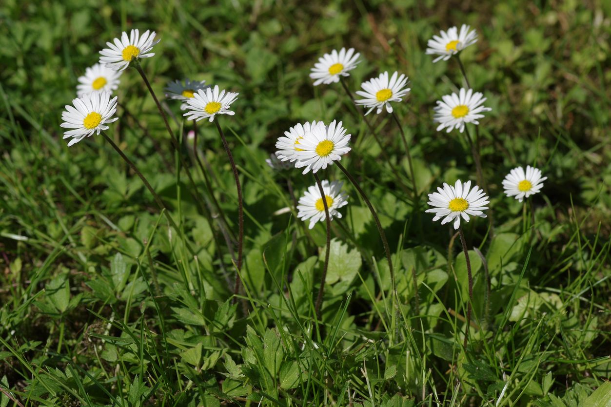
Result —
[[390, 76], [390, 80], [388, 79], [388, 72], [381, 73], [378, 78], [372, 78], [360, 84], [364, 90], [357, 90], [356, 94], [364, 97], [364, 99], [357, 100], [356, 104], [369, 108], [365, 116], [375, 108], [378, 108], [376, 113], [380, 114], [384, 106], [386, 106], [387, 112], [392, 113], [390, 102], [403, 100], [403, 97], [411, 90], [409, 87], [405, 88], [407, 84], [408, 77], [403, 73], [399, 76], [399, 73], [395, 71]]

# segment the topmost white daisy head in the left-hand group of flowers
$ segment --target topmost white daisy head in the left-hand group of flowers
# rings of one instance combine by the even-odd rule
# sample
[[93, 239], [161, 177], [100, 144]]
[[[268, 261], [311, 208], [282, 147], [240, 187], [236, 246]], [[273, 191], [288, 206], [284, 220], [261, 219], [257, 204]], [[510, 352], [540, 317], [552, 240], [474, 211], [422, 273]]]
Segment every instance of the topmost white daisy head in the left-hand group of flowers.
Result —
[[113, 42], [107, 42], [108, 48], [100, 51], [100, 64], [115, 71], [122, 71], [134, 59], [148, 58], [155, 55], [150, 51], [160, 40], [155, 41], [155, 31], [145, 31], [142, 36], [137, 29], [130, 31], [130, 37], [123, 31], [121, 39], [115, 38]]

